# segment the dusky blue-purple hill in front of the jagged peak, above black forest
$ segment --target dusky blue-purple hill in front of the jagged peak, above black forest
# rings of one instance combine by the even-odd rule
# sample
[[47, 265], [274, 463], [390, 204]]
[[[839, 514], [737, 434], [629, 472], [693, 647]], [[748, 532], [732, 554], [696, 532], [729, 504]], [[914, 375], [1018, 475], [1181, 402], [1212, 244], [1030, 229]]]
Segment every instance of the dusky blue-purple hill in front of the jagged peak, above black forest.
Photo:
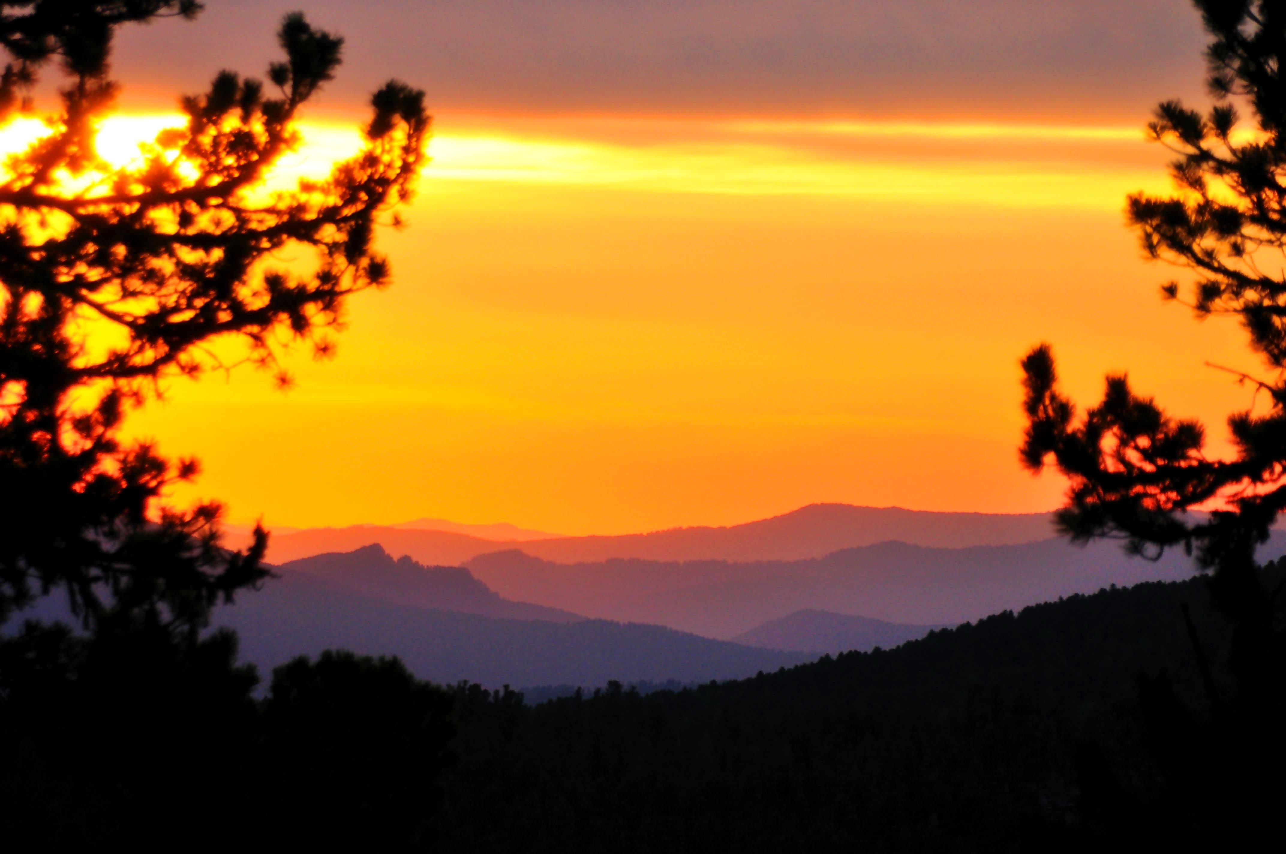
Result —
[[423, 679], [484, 686], [601, 686], [610, 679], [709, 682], [814, 659], [711, 640], [655, 625], [552, 622], [419, 608], [363, 595], [309, 572], [284, 571], [257, 593], [221, 606], [242, 659], [261, 671], [298, 655], [346, 648], [396, 655]]

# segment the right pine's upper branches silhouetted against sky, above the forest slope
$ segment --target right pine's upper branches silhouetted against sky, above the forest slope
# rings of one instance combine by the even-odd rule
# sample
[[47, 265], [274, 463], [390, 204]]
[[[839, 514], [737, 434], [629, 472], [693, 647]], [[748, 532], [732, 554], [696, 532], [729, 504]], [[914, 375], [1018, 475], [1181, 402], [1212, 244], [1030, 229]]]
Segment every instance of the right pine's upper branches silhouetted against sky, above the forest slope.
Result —
[[[1152, 139], [1175, 152], [1175, 193], [1129, 197], [1128, 216], [1152, 259], [1193, 274], [1169, 300], [1199, 316], [1232, 315], [1271, 374], [1251, 383], [1267, 406], [1228, 418], [1236, 455], [1205, 453], [1205, 427], [1177, 419], [1110, 376], [1102, 401], [1084, 414], [1057, 386], [1048, 345], [1024, 360], [1029, 418], [1021, 458], [1046, 460], [1071, 480], [1058, 522], [1075, 540], [1120, 536], [1136, 553], [1170, 547], [1215, 570], [1220, 601], [1246, 619], [1265, 619], [1251, 579], [1255, 548], [1286, 507], [1286, 6], [1269, 0], [1196, 0], [1211, 36], [1205, 113], [1161, 103]], [[1242, 111], [1254, 129], [1242, 130]], [[1273, 265], [1277, 271], [1273, 271]], [[1209, 514], [1190, 509], [1214, 507]], [[1254, 613], [1251, 613], [1254, 612]]]

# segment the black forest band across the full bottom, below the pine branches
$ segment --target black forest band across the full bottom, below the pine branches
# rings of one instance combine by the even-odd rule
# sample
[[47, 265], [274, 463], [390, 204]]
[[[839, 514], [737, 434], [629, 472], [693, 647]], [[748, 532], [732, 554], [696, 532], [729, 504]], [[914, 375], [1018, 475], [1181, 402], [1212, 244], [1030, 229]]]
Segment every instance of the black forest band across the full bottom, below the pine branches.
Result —
[[[1286, 566], [1265, 574], [1277, 586]], [[741, 682], [646, 696], [613, 683], [526, 705], [331, 652], [279, 668], [255, 698], [228, 633], [176, 656], [134, 626], [82, 640], [41, 629], [0, 644], [0, 839], [31, 851], [1187, 850], [1236, 840], [1247, 810], [1274, 814], [1229, 763], [1247, 747], [1220, 724], [1237, 702], [1231, 637], [1197, 577]]]

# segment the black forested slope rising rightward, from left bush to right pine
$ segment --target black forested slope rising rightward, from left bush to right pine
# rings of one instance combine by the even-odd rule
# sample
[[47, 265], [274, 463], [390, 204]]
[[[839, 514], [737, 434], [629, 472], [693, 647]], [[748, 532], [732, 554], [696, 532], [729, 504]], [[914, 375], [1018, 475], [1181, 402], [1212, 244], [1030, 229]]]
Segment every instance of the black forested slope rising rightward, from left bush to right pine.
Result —
[[1218, 665], [1229, 628], [1206, 585], [1102, 590], [678, 692], [612, 686], [526, 706], [460, 687], [459, 759], [432, 836], [476, 851], [1079, 850], [1166, 836], [1184, 850], [1215, 826], [1228, 839], [1236, 809], [1169, 767], [1183, 756], [1199, 773], [1218, 741], [1202, 659], [1217, 696], [1233, 693]]

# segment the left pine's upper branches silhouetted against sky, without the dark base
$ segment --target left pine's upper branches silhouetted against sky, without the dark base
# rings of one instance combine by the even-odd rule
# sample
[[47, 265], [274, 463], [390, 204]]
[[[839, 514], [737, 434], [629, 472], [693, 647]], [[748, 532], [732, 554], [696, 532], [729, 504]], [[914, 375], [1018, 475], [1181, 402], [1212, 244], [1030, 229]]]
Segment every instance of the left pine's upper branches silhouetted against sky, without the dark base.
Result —
[[[229, 367], [229, 347], [276, 372], [292, 345], [331, 352], [345, 300], [388, 282], [372, 246], [379, 217], [409, 199], [430, 132], [423, 93], [390, 81], [370, 100], [364, 148], [325, 180], [267, 193], [300, 144], [296, 120], [340, 66], [343, 40], [287, 15], [267, 84], [220, 72], [185, 96], [186, 123], [132, 166], [95, 149], [112, 107], [114, 27], [193, 17], [186, 0], [0, 3], [12, 111], [54, 57], [68, 85], [50, 132], [5, 163], [0, 183], [0, 621], [66, 588], [86, 625], [105, 610], [195, 631], [210, 607], [262, 579], [266, 535], [219, 548], [217, 504], [159, 505], [194, 460], [171, 463], [120, 439], [125, 413], [167, 377]], [[310, 255], [285, 269], [284, 248]], [[235, 360], [239, 361], [239, 360]], [[234, 364], [235, 364], [234, 361]]]

